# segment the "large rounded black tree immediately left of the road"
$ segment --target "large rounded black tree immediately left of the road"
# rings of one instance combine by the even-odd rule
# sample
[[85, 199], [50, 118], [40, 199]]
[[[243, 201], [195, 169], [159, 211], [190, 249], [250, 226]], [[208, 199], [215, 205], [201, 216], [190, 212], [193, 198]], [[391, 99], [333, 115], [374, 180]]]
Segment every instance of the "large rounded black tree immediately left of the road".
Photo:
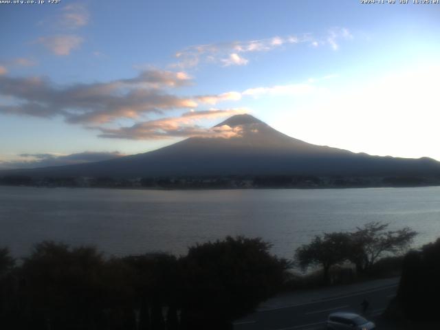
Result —
[[184, 292], [181, 329], [232, 329], [285, 280], [287, 261], [270, 244], [242, 236], [195, 245], [181, 259]]

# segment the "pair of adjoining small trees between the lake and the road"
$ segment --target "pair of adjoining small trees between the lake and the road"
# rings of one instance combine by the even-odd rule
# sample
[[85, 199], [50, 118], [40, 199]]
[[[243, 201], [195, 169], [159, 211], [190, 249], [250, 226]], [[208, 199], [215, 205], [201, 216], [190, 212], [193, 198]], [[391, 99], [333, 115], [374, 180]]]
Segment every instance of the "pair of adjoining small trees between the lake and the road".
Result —
[[306, 269], [320, 265], [322, 281], [329, 283], [329, 271], [333, 265], [351, 262], [358, 273], [366, 274], [384, 256], [404, 252], [417, 232], [406, 227], [387, 230], [388, 223], [366, 223], [354, 232], [331, 232], [315, 236], [311, 243], [300, 246], [295, 261]]

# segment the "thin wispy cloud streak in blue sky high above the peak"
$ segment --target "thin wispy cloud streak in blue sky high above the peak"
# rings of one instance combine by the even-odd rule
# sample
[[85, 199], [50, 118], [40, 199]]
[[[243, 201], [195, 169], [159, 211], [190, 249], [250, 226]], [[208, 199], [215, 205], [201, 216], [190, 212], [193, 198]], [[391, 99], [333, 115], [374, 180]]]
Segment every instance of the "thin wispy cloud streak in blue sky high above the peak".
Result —
[[201, 63], [214, 63], [225, 67], [230, 65], [247, 65], [249, 59], [243, 57], [243, 54], [269, 52], [283, 45], [296, 45], [300, 43], [306, 43], [314, 47], [329, 45], [333, 50], [338, 50], [338, 42], [342, 39], [353, 39], [353, 35], [346, 28], [333, 28], [322, 35], [305, 33], [289, 36], [273, 36], [272, 38], [250, 41], [192, 45], [175, 54], [175, 57], [179, 61], [175, 66], [195, 67]]

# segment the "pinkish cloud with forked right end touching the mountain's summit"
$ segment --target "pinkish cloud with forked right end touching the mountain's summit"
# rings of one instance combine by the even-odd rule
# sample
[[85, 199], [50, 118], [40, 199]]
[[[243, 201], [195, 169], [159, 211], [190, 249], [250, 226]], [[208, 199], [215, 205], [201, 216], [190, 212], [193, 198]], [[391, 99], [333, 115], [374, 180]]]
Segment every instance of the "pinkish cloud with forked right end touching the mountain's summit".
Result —
[[196, 120], [219, 118], [228, 115], [248, 112], [247, 109], [210, 109], [206, 111], [188, 111], [180, 117], [161, 118], [138, 122], [133, 126], [118, 129], [98, 127], [100, 137], [129, 140], [163, 140], [170, 137], [223, 137], [238, 136], [239, 128], [223, 125], [206, 129], [195, 124]]

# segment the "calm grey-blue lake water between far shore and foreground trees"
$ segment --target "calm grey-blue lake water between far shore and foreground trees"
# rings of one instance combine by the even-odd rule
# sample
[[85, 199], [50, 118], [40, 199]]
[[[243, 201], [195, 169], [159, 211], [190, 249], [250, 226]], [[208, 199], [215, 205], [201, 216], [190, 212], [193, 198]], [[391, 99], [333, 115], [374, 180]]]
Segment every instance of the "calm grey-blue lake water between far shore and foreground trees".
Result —
[[316, 234], [369, 221], [440, 236], [440, 187], [320, 190], [115, 190], [0, 186], [0, 246], [25, 256], [50, 239], [107, 254], [186, 254], [196, 242], [261, 236], [291, 258]]

